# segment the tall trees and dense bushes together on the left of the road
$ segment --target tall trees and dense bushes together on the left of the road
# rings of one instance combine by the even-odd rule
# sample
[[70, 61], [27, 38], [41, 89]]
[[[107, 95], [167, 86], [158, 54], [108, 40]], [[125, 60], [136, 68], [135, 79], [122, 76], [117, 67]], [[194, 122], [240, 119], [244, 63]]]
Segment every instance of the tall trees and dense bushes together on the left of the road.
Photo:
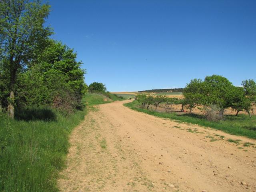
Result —
[[82, 108], [86, 71], [76, 53], [50, 38], [50, 5], [0, 0], [0, 112], [50, 106], [65, 113]]

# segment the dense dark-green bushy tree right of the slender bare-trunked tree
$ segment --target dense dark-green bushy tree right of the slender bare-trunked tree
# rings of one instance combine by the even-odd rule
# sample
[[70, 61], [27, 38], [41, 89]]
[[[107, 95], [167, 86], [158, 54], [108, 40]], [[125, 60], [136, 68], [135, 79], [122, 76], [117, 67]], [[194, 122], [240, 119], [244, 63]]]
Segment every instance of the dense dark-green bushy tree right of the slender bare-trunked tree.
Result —
[[26, 72], [18, 76], [19, 105], [49, 105], [72, 112], [81, 108], [81, 99], [87, 90], [82, 62], [76, 62], [76, 53], [60, 42], [49, 40], [46, 49], [30, 63]]

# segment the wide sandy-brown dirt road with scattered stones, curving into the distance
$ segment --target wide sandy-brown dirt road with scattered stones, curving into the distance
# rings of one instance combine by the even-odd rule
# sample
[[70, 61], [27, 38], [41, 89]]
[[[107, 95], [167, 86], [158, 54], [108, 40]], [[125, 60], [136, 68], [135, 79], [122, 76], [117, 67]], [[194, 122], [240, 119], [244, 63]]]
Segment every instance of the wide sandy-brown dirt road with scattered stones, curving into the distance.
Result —
[[256, 191], [256, 148], [242, 145], [255, 140], [136, 112], [125, 102], [97, 106], [73, 131], [61, 191]]

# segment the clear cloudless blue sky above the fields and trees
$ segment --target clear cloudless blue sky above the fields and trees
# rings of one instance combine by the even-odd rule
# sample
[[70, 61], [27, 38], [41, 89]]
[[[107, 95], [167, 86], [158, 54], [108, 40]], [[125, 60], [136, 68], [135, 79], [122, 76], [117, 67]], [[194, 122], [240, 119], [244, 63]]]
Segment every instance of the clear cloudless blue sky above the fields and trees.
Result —
[[74, 48], [87, 84], [180, 88], [218, 74], [256, 80], [256, 0], [49, 0], [52, 36]]

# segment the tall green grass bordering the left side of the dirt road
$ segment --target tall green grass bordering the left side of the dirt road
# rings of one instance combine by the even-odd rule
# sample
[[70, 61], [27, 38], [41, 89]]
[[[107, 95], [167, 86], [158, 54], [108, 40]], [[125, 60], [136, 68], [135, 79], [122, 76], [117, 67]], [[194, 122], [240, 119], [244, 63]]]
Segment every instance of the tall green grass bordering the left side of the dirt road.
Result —
[[[86, 94], [87, 107], [69, 116], [50, 108], [16, 111], [11, 120], [0, 114], [0, 191], [57, 192], [58, 172], [66, 162], [69, 135], [92, 105], [120, 98]], [[106, 140], [101, 141], [106, 148]]]

